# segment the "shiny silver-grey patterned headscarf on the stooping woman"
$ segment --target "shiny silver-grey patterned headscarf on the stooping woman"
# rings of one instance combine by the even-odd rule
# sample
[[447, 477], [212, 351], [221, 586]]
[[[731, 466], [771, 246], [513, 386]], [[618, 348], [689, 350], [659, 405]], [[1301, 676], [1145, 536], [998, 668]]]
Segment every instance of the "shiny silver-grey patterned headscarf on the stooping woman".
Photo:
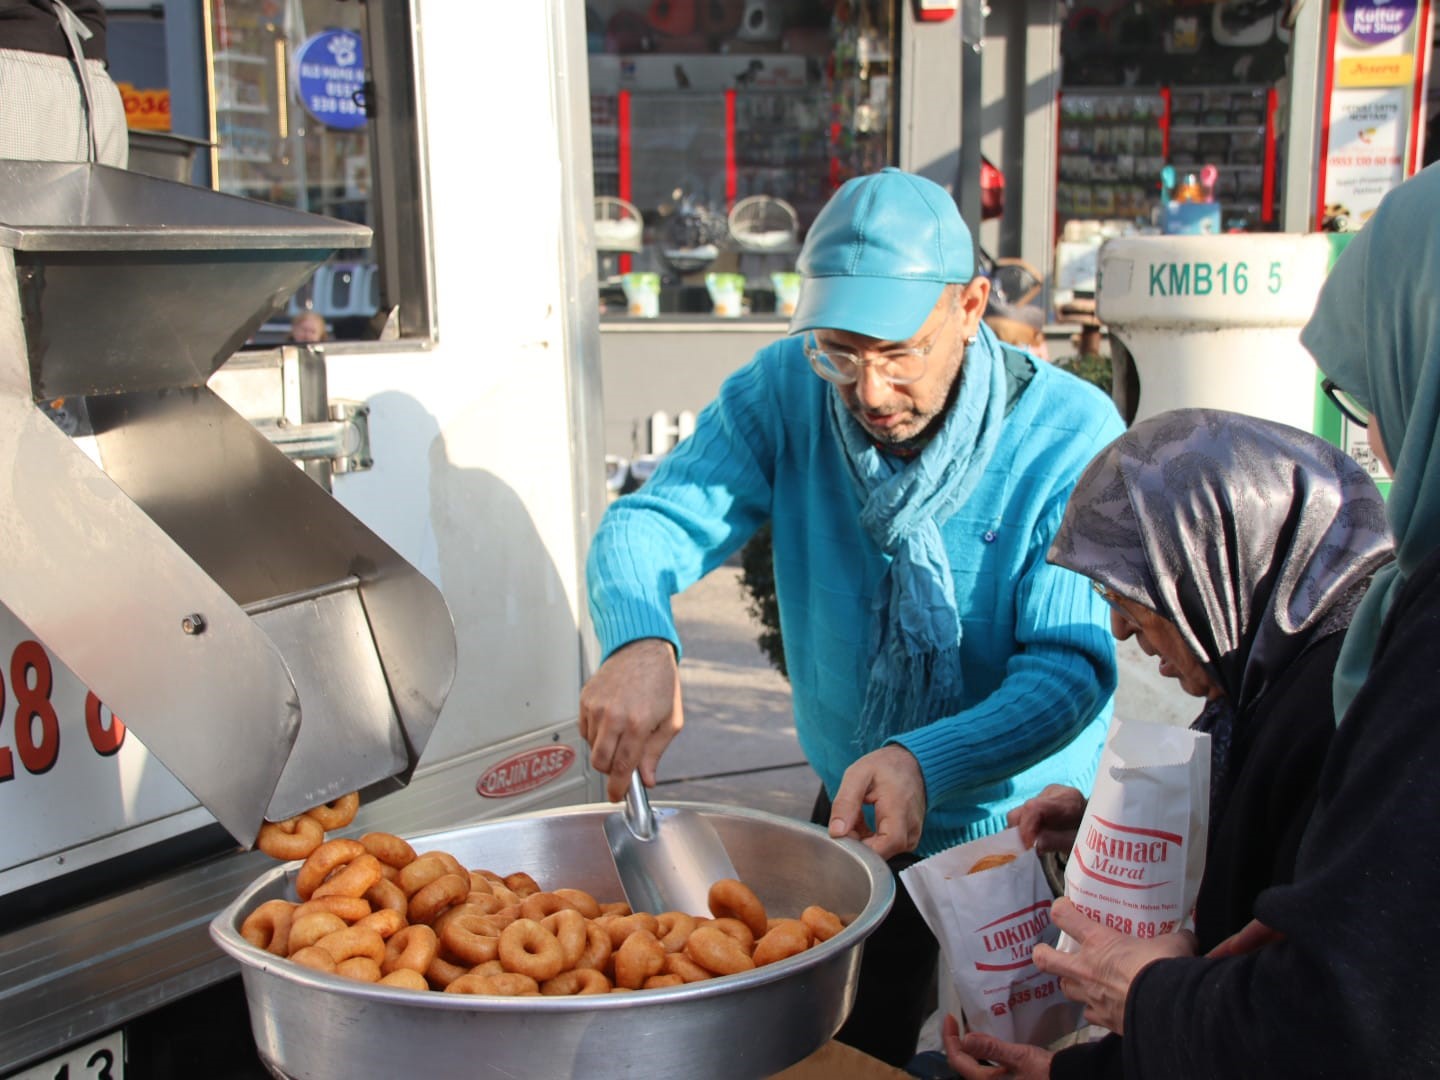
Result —
[[1335, 446], [1178, 409], [1090, 462], [1048, 559], [1169, 619], [1204, 661], [1224, 693], [1197, 721], [1214, 739], [1223, 805], [1234, 723], [1316, 636], [1348, 624], [1390, 554], [1380, 491]]

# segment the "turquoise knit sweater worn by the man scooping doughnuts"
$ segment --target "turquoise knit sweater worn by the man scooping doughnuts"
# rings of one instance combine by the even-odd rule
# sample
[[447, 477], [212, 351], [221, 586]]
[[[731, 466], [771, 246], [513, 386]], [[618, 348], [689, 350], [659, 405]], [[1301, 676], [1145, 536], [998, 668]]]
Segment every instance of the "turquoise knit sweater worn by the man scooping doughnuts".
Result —
[[[924, 776], [920, 855], [1005, 828], [1007, 811], [1047, 783], [1089, 791], [1110, 717], [1107, 609], [1045, 550], [1080, 471], [1123, 425], [1093, 386], [1035, 369], [979, 485], [942, 527], [960, 606], [965, 707], [890, 739]], [[678, 651], [670, 598], [769, 518], [795, 727], [834, 796], [865, 750], [855, 721], [886, 556], [860, 524], [828, 393], [799, 338], [760, 350], [645, 487], [606, 511], [588, 588], [606, 657], [638, 638]]]

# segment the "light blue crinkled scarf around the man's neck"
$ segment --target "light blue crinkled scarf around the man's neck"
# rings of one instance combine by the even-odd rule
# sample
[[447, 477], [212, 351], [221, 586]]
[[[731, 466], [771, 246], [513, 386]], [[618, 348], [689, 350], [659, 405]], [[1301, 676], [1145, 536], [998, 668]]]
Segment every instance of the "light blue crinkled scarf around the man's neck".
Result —
[[1005, 364], [988, 327], [965, 350], [959, 379], [940, 431], [906, 459], [876, 449], [831, 390], [831, 422], [860, 495], [860, 523], [887, 559], [871, 605], [874, 660], [860, 713], [860, 753], [958, 711], [963, 700], [960, 618], [940, 526], [979, 484], [999, 441]]

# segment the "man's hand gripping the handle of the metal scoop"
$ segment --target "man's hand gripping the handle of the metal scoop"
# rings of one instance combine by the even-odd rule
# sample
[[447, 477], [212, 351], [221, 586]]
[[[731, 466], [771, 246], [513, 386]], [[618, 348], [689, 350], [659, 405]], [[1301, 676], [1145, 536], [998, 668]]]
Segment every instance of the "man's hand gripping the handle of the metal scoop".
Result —
[[625, 798], [635, 769], [647, 788], [655, 786], [660, 756], [684, 724], [675, 649], [661, 638], [615, 649], [580, 690], [580, 736], [590, 744], [590, 766], [609, 773], [611, 802]]

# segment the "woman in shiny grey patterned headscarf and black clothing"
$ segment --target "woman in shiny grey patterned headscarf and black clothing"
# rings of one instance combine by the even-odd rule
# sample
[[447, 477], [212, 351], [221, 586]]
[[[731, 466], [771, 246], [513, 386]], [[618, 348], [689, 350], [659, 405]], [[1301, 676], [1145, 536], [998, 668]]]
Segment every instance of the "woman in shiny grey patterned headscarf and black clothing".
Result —
[[[1195, 901], [1201, 950], [1254, 917], [1290, 880], [1335, 733], [1331, 683], [1345, 628], [1391, 559], [1385, 504], [1331, 444], [1272, 420], [1179, 409], [1138, 423], [1080, 477], [1050, 560], [1110, 603], [1117, 641], [1159, 657], [1204, 700], [1210, 834]], [[1067, 854], [1084, 814], [1074, 788], [1012, 811], [1027, 847]], [[958, 1025], [946, 1024], [952, 1045]], [[1123, 1076], [1117, 1035], [1028, 1060], [1048, 1077]], [[978, 1077], [963, 1053], [950, 1066]]]

